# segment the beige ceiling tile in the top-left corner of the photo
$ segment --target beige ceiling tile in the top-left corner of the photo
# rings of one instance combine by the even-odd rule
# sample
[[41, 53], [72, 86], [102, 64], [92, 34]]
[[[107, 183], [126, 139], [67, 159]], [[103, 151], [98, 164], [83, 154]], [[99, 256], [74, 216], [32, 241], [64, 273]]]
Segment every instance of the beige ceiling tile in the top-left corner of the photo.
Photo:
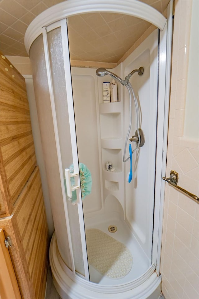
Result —
[[10, 15], [15, 16], [17, 19], [22, 17], [27, 12], [27, 10], [24, 7], [22, 7], [14, 0], [9, 0], [9, 1], [3, 0], [1, 2], [1, 8], [5, 12], [8, 12]]

